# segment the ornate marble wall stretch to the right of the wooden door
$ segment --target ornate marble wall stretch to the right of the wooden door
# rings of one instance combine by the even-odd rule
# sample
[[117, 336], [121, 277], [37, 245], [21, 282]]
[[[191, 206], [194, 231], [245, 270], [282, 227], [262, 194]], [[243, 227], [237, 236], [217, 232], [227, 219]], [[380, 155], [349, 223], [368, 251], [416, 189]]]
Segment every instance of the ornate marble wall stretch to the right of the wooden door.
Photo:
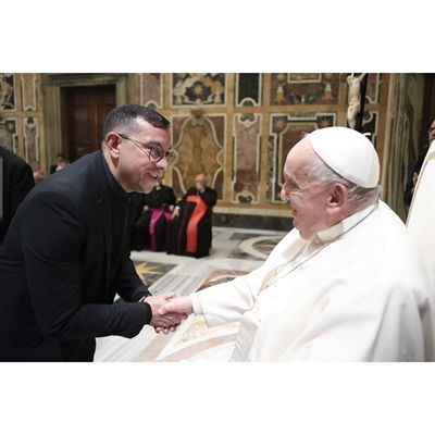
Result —
[[[172, 122], [178, 158], [166, 183], [181, 197], [196, 174], [206, 172], [219, 194], [216, 212], [252, 216], [260, 210], [281, 217], [285, 157], [303, 132], [346, 125], [347, 76], [142, 74], [140, 102]], [[388, 74], [369, 74], [362, 124], [381, 160], [388, 79]]]

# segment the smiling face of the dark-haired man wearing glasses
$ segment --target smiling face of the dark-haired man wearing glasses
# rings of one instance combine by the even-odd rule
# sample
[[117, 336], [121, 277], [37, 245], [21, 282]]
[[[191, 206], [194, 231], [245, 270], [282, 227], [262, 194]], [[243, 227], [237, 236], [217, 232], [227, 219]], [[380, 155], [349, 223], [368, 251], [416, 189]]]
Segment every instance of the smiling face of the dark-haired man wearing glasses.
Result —
[[[114, 159], [115, 178], [127, 192], [149, 194], [169, 166], [164, 153], [171, 148], [170, 130], [156, 128], [139, 117], [137, 128], [116, 133], [124, 137], [114, 136], [117, 141]], [[107, 136], [107, 141], [111, 133]], [[157, 162], [150, 159], [153, 146], [163, 150], [163, 158]], [[111, 156], [113, 158], [113, 151]]]

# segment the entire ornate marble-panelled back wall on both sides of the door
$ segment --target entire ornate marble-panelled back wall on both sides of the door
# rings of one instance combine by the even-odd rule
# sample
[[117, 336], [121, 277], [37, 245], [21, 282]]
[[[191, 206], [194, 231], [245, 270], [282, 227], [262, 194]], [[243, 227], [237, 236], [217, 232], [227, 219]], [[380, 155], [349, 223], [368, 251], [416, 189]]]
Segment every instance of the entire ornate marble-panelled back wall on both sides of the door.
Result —
[[[288, 206], [279, 199], [285, 157], [303, 132], [347, 125], [349, 75], [0, 74], [0, 144], [34, 169], [47, 171], [50, 159], [67, 147], [59, 98], [62, 86], [113, 82], [117, 103], [149, 105], [171, 121], [177, 159], [164, 182], [178, 198], [199, 172], [206, 172], [219, 194], [216, 222], [281, 228], [289, 219]], [[398, 75], [370, 73], [366, 78], [361, 129], [370, 134], [382, 163], [387, 163], [389, 152], [387, 107], [401, 91], [390, 86], [394, 76]], [[386, 164], [382, 167], [388, 171]], [[400, 189], [394, 184], [386, 187]], [[383, 195], [388, 197], [385, 189]]]

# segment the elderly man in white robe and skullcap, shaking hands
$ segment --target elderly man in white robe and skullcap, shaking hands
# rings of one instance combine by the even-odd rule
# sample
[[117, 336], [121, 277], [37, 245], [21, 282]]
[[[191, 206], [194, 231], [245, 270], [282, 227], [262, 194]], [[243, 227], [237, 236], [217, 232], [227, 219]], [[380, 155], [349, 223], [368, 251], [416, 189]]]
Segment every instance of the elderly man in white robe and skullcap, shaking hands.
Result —
[[434, 276], [378, 198], [372, 142], [314, 130], [289, 151], [284, 178], [295, 228], [264, 264], [160, 313], [240, 322], [231, 361], [433, 361]]

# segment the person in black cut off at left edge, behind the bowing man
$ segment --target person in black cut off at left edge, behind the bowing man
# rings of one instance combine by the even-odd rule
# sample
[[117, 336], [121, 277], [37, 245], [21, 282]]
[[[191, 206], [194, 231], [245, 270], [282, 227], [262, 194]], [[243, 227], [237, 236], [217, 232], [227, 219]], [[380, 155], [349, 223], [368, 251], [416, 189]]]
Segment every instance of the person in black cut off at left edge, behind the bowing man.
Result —
[[32, 166], [0, 146], [0, 245], [25, 196], [35, 186]]

